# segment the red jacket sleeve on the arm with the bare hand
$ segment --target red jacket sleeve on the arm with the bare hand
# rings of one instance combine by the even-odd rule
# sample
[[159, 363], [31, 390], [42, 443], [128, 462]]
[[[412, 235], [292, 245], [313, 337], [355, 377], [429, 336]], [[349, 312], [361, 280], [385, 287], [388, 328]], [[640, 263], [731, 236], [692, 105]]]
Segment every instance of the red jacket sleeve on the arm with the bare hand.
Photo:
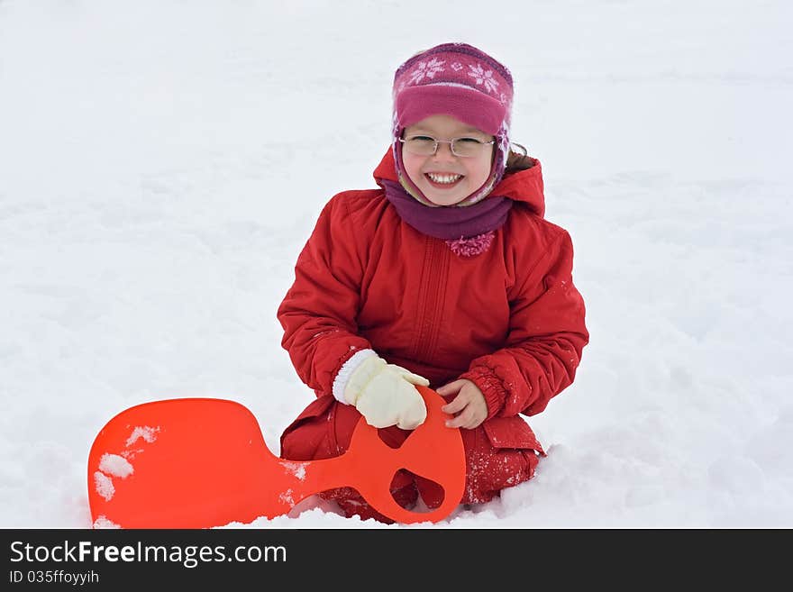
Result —
[[482, 391], [488, 419], [538, 414], [575, 378], [589, 334], [572, 263], [572, 241], [561, 230], [511, 302], [506, 346], [472, 360], [460, 377]]

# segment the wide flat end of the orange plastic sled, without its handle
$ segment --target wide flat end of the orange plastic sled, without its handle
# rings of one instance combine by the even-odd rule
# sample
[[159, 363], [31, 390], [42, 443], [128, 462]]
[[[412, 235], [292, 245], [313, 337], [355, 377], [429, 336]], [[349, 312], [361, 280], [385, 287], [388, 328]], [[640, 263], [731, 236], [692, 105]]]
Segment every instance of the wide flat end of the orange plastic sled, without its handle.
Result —
[[136, 405], [114, 416], [89, 452], [91, 518], [95, 527], [121, 528], [250, 522], [267, 511], [260, 487], [273, 460], [244, 405], [211, 398]]

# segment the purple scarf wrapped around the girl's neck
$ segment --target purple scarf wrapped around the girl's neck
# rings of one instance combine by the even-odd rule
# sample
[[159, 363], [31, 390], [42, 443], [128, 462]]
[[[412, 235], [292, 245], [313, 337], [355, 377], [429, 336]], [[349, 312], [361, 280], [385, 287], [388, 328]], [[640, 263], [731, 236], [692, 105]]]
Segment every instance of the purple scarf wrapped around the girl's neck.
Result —
[[506, 222], [513, 204], [507, 197], [491, 196], [465, 207], [430, 207], [417, 202], [396, 181], [379, 179], [379, 182], [386, 190], [387, 200], [396, 207], [396, 214], [405, 223], [418, 232], [447, 242], [481, 241], [482, 235], [490, 234]]

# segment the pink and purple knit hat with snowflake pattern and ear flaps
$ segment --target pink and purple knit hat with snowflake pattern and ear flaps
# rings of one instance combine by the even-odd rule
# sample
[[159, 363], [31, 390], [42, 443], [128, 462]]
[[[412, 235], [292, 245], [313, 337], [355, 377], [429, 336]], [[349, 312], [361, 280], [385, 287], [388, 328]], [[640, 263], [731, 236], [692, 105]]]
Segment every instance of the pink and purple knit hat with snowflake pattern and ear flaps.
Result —
[[396, 171], [406, 191], [424, 205], [433, 205], [402, 166], [402, 132], [430, 115], [447, 114], [496, 137], [488, 180], [457, 205], [475, 204], [488, 196], [506, 167], [512, 98], [509, 70], [467, 43], [442, 43], [407, 59], [394, 75], [392, 127]]

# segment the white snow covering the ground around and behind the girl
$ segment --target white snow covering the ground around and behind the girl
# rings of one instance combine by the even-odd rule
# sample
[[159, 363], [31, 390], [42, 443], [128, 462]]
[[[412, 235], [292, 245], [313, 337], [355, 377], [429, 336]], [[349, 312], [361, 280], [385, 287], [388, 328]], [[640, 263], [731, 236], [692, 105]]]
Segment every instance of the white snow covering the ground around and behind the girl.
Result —
[[399, 63], [467, 41], [512, 70], [588, 306], [548, 457], [434, 526], [230, 526], [793, 526], [793, 8], [744, 5], [0, 0], [0, 525], [90, 527], [132, 405], [230, 398], [278, 453], [313, 397], [276, 319], [296, 256], [373, 187]]

